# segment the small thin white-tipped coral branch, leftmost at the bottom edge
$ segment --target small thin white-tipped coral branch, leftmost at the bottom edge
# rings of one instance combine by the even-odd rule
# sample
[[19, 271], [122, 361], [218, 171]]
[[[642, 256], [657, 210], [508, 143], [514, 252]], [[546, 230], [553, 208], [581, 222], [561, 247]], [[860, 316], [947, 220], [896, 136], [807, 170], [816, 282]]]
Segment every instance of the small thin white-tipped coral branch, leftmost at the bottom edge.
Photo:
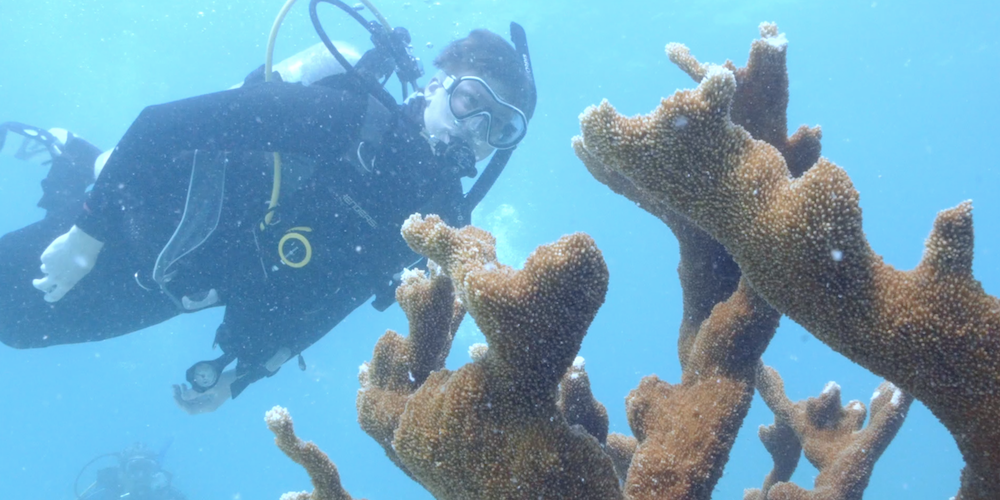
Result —
[[280, 406], [271, 408], [264, 416], [267, 428], [274, 433], [274, 444], [301, 465], [313, 483], [312, 493], [288, 493], [282, 499], [296, 500], [351, 500], [351, 495], [340, 485], [340, 474], [330, 457], [312, 441], [304, 442], [295, 435], [292, 415]]

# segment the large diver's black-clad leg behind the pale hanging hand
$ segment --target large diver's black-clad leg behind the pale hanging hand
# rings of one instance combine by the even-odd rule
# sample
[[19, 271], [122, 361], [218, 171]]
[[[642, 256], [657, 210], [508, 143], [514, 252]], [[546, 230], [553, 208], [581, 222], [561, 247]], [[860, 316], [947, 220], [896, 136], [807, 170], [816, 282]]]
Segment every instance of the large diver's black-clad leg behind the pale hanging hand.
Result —
[[140, 287], [127, 248], [108, 245], [93, 271], [59, 302], [48, 303], [31, 280], [42, 276], [39, 256], [72, 226], [47, 216], [0, 238], [0, 342], [16, 348], [90, 342], [140, 330], [177, 314], [159, 290]]

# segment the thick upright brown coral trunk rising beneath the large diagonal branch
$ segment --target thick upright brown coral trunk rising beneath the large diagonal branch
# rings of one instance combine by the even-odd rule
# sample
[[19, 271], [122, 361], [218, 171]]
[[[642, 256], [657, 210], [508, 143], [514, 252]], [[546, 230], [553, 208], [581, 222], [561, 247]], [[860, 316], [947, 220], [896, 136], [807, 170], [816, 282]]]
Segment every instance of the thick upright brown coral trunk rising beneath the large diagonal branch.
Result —
[[702, 324], [683, 382], [648, 376], [629, 394], [629, 425], [639, 440], [625, 482], [630, 499], [711, 497], [779, 317], [741, 281]]

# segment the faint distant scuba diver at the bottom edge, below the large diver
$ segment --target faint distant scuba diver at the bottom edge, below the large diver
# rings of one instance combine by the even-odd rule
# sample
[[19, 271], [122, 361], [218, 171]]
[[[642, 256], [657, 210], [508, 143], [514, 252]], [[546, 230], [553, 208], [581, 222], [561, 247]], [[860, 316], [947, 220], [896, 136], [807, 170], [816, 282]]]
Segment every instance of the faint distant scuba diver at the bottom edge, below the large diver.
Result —
[[[95, 480], [80, 491], [80, 478], [95, 463], [115, 459], [116, 464], [97, 470]], [[119, 453], [99, 455], [80, 470], [73, 483], [77, 500], [185, 500], [173, 486], [173, 474], [163, 470], [163, 453], [136, 443]]]

